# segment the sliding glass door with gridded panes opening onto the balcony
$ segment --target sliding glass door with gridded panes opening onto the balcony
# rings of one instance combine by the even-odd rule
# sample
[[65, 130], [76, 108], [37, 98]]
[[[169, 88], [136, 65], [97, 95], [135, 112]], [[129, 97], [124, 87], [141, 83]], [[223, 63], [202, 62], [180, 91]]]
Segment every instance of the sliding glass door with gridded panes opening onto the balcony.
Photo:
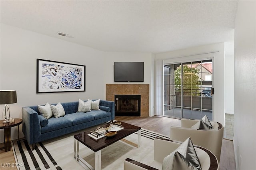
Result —
[[212, 120], [212, 60], [164, 65], [164, 116]]

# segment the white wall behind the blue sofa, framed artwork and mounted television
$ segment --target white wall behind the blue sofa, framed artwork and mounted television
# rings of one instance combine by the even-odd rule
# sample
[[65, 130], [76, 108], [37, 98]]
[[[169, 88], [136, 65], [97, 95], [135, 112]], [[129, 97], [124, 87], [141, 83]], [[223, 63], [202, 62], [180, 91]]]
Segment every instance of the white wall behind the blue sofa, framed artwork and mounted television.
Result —
[[[0, 90], [17, 90], [18, 102], [9, 105], [13, 118], [22, 118], [23, 106], [72, 102], [79, 98], [105, 100], [106, 84], [115, 83], [113, 66], [118, 61], [144, 62], [143, 83], [154, 85], [151, 85], [154, 58], [151, 53], [102, 52], [2, 23], [0, 28]], [[36, 58], [86, 65], [86, 92], [36, 94]], [[153, 101], [151, 99], [150, 104]], [[2, 110], [3, 105], [0, 105], [1, 113]], [[0, 119], [3, 119], [2, 114]], [[0, 136], [3, 133], [1, 129]], [[18, 127], [11, 128], [12, 140], [18, 138], [17, 133]]]

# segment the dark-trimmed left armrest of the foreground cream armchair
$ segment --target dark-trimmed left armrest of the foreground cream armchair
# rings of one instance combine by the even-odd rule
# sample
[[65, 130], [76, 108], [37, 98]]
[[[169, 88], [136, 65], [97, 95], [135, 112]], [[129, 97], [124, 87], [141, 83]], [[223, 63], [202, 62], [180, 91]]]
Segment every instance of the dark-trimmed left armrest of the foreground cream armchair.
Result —
[[124, 170], [157, 170], [157, 169], [151, 166], [148, 166], [146, 164], [142, 164], [136, 160], [126, 158], [126, 160], [124, 160]]

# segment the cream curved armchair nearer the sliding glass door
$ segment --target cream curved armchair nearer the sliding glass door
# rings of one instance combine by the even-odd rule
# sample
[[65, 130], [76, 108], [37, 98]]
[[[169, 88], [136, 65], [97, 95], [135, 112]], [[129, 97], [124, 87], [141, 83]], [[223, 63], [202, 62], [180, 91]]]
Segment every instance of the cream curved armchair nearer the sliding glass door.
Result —
[[193, 144], [210, 150], [220, 161], [220, 152], [223, 138], [223, 126], [219, 122], [210, 121], [212, 130], [192, 129], [191, 126], [199, 120], [181, 119], [181, 127], [170, 127], [170, 139], [183, 142], [188, 137]]

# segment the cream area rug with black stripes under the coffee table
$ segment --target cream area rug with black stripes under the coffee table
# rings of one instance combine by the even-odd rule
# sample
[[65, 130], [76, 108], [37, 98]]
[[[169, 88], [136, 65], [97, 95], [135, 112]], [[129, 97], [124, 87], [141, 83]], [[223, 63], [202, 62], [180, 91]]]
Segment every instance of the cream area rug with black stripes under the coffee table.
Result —
[[[108, 122], [109, 123], [109, 122]], [[150, 162], [154, 159], [154, 138], [167, 136], [141, 130], [141, 147], [136, 148], [125, 142], [118, 141], [102, 150], [102, 169], [123, 170], [123, 161], [131, 158], [137, 161]], [[134, 143], [138, 141], [138, 132], [126, 137]], [[35, 150], [31, 150], [26, 140], [12, 142], [12, 150], [18, 170], [83, 170], [74, 159], [74, 137], [64, 136], [47, 142], [39, 142]], [[94, 164], [94, 152], [80, 144], [80, 156]], [[107, 160], [104, 160], [106, 158]]]

